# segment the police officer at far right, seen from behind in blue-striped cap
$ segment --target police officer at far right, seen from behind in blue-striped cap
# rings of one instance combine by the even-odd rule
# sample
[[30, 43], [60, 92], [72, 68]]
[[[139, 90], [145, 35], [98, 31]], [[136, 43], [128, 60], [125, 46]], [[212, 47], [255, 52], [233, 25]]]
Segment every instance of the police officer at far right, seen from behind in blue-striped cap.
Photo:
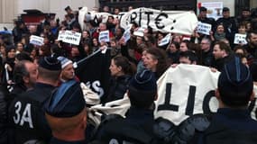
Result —
[[191, 116], [183, 121], [177, 129], [179, 135], [174, 139], [194, 144], [256, 143], [257, 121], [251, 118], [248, 111], [248, 103], [254, 95], [252, 87], [250, 70], [243, 65], [240, 58], [235, 57], [225, 64], [218, 78], [217, 112], [208, 119], [199, 119], [198, 115], [197, 120]]

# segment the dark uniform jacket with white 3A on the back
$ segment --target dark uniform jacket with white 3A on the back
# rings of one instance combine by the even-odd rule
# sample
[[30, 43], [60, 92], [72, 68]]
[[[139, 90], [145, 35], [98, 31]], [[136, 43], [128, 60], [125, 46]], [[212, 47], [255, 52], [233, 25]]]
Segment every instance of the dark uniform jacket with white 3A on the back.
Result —
[[37, 83], [34, 89], [18, 95], [9, 106], [9, 121], [14, 126], [14, 140], [49, 142], [50, 128], [45, 120], [43, 103], [50, 97], [52, 85]]

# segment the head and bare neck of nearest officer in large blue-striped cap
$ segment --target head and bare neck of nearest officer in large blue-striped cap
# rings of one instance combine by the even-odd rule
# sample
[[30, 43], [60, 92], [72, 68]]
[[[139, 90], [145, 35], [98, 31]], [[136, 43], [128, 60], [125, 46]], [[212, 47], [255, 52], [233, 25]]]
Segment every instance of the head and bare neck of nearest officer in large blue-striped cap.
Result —
[[86, 143], [86, 102], [76, 80], [60, 85], [46, 102], [45, 114], [52, 130], [50, 144]]

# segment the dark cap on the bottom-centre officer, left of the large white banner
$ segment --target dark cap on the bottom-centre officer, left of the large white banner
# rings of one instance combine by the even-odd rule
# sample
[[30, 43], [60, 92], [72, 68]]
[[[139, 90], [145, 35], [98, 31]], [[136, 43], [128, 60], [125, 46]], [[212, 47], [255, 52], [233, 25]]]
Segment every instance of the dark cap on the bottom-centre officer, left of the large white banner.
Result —
[[155, 91], [157, 89], [156, 77], [149, 69], [143, 69], [141, 73], [133, 76], [130, 86], [140, 91]]

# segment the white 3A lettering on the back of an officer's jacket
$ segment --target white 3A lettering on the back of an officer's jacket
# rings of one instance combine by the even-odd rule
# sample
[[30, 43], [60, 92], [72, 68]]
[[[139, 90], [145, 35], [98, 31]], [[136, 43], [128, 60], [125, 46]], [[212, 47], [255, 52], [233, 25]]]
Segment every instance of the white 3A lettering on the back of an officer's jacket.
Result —
[[21, 102], [16, 102], [14, 104], [14, 107], [16, 108], [15, 110], [15, 116], [14, 118], [14, 123], [18, 124], [20, 122], [20, 125], [23, 126], [24, 122], [28, 122], [30, 128], [33, 129], [33, 124], [32, 124], [32, 112], [31, 112], [31, 103], [27, 103], [25, 106], [25, 109], [23, 111], [23, 116], [21, 118], [21, 108], [22, 108], [22, 103]]

